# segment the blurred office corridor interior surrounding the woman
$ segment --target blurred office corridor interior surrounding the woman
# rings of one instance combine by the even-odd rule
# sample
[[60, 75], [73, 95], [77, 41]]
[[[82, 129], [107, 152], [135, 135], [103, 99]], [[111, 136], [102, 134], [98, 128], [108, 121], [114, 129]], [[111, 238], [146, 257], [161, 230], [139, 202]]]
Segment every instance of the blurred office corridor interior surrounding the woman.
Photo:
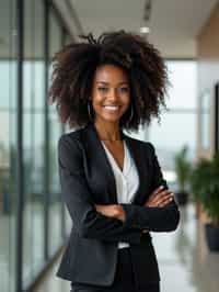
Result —
[[[153, 143], [177, 192], [175, 155], [184, 146], [192, 166], [218, 153], [219, 1], [0, 0], [0, 291], [69, 291], [55, 276], [72, 223], [57, 161], [57, 142], [71, 128], [47, 101], [54, 55], [81, 34], [107, 30], [139, 33], [157, 46], [169, 69], [168, 110], [161, 124], [129, 135]], [[180, 209], [177, 231], [152, 234], [162, 292], [218, 292], [209, 217], [189, 188]]]

